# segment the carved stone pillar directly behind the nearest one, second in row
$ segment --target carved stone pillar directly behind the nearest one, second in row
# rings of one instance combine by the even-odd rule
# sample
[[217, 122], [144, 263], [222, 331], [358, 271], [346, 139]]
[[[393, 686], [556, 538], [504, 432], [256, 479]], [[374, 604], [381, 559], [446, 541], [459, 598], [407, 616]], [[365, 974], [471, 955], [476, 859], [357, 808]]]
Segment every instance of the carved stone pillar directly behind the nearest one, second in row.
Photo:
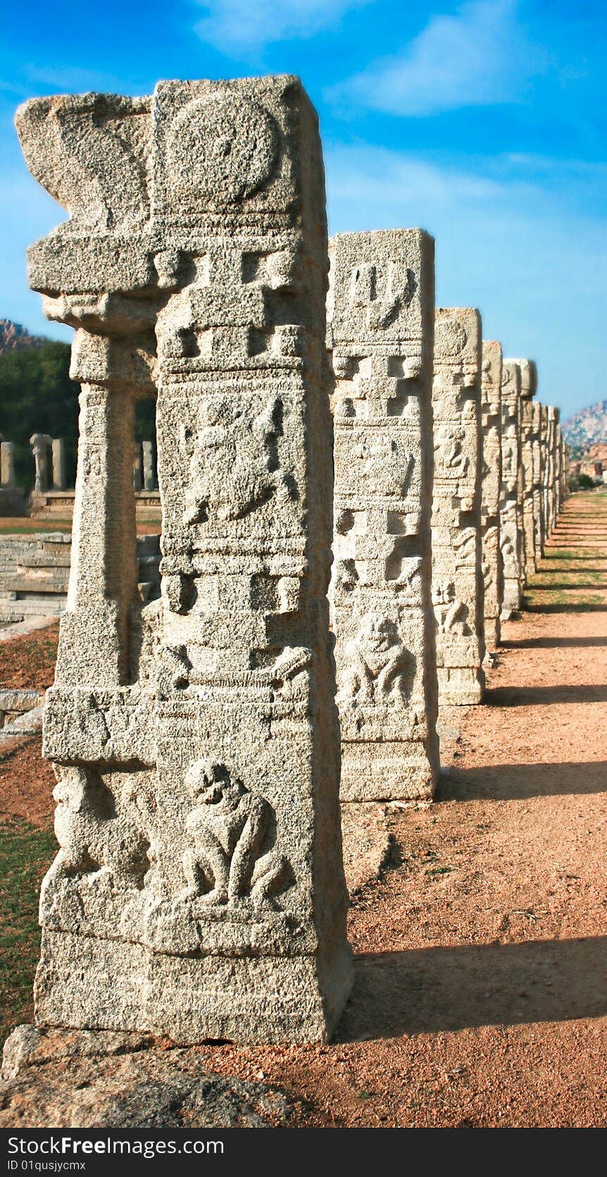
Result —
[[342, 233], [329, 257], [341, 798], [431, 797], [434, 241], [419, 230]]

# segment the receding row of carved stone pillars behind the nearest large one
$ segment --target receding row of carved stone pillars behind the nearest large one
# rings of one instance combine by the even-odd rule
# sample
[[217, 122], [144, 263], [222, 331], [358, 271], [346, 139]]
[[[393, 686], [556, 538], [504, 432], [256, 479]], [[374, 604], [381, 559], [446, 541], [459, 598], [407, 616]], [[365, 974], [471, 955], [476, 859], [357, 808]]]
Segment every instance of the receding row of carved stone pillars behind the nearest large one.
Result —
[[432, 246], [418, 230], [329, 242], [347, 800], [432, 796], [438, 709], [482, 700], [501, 619], [520, 609], [568, 493], [535, 365], [503, 360], [475, 308], [434, 311]]

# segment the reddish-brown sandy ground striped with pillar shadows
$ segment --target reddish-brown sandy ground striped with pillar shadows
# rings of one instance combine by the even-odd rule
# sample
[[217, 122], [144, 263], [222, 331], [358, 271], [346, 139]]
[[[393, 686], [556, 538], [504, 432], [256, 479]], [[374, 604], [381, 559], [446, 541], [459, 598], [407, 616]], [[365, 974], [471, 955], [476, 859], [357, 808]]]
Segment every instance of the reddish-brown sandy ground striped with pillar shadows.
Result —
[[[607, 1124], [607, 496], [569, 500], [548, 556], [436, 804], [387, 811], [336, 1040], [198, 1048], [304, 1100], [301, 1126]], [[0, 809], [44, 823], [36, 756], [2, 765]]]

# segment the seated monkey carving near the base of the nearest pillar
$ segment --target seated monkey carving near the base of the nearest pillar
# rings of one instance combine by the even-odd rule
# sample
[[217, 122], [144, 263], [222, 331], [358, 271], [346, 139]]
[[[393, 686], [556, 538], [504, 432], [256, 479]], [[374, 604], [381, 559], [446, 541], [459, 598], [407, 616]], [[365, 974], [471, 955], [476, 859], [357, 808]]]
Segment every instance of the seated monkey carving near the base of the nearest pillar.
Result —
[[285, 884], [288, 864], [274, 847], [275, 814], [225, 764], [196, 760], [186, 777], [194, 807], [186, 819], [192, 846], [184, 855], [181, 898], [209, 905], [254, 905]]

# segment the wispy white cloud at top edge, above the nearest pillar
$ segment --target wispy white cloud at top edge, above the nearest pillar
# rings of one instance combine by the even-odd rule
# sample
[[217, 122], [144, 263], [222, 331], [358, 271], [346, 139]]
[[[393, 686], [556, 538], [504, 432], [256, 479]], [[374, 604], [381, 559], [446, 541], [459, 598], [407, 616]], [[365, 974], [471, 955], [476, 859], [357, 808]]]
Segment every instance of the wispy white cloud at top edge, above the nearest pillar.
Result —
[[372, 0], [196, 0], [206, 15], [195, 25], [201, 40], [221, 53], [256, 52], [291, 38], [314, 36], [339, 24], [348, 8]]

